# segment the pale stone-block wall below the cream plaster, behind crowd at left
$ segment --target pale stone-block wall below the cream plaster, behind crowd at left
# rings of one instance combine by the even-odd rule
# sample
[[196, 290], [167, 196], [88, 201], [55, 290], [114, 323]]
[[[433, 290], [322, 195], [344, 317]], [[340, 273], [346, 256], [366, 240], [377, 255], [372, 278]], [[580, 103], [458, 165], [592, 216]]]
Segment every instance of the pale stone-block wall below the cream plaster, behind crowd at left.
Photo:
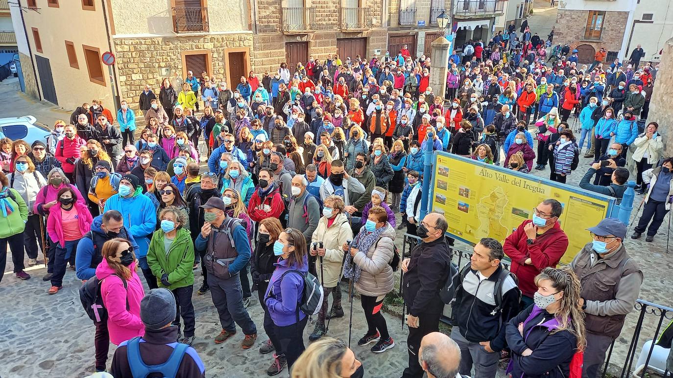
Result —
[[217, 79], [226, 77], [225, 49], [243, 47], [250, 48], [252, 53], [252, 34], [115, 39], [120, 97], [130, 101], [132, 109], [138, 109], [145, 84], [151, 85], [158, 95], [162, 81], [160, 68], [169, 67], [171, 73], [182, 70], [180, 53], [190, 50], [211, 50], [213, 72], [210, 74]]

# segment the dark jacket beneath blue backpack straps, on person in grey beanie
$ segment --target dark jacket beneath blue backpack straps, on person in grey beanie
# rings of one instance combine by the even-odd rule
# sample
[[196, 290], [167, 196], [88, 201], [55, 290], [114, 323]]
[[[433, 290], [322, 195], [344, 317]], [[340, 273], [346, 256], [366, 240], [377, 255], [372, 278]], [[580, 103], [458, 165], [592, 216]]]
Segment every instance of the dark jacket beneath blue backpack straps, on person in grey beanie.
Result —
[[[145, 342], [140, 343], [140, 355], [143, 363], [145, 365], [160, 365], [168, 361], [168, 357], [173, 352], [173, 347], [168, 344], [174, 343], [177, 338], [177, 326], [170, 326], [161, 330], [146, 329], [145, 336], [143, 336]], [[133, 378], [127, 357], [127, 341], [119, 344], [117, 350], [114, 351], [112, 367], [110, 369], [110, 373], [114, 378]], [[158, 377], [158, 375], [148, 375], [148, 377], [155, 376]], [[180, 368], [175, 377], [192, 378], [205, 376], [205, 366], [201, 358], [199, 358], [199, 354], [191, 346], [188, 347], [182, 356], [182, 363], [180, 363]]]

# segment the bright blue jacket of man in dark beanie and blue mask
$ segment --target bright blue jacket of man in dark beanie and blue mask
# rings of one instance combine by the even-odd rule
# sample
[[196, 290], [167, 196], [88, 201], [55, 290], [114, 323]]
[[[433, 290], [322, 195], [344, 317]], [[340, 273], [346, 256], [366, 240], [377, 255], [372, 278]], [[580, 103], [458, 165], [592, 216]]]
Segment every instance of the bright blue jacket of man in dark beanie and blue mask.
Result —
[[[118, 194], [108, 198], [105, 202], [103, 212], [108, 210], [119, 211], [124, 218], [124, 226], [126, 226], [133, 238], [138, 242], [138, 258], [147, 256], [149, 249], [149, 240], [152, 238], [153, 232], [157, 227], [157, 211], [152, 203], [152, 200], [143, 195], [143, 188], [141, 186], [135, 189], [132, 197], [124, 198]], [[149, 268], [147, 261], [144, 259], [140, 261], [140, 267], [143, 269]], [[145, 265], [143, 267], [143, 265]]]

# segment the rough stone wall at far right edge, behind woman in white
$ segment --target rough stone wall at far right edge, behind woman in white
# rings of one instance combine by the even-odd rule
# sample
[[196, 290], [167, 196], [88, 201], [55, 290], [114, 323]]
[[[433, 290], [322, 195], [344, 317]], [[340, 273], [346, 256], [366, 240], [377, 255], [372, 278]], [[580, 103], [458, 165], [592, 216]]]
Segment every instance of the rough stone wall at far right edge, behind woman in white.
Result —
[[671, 120], [673, 120], [673, 107], [670, 103], [670, 95], [673, 93], [673, 38], [666, 41], [662, 59], [657, 74], [656, 84], [649, 101], [649, 114], [647, 121], [657, 122], [659, 132], [664, 135], [664, 156], [673, 156], [673, 132]]

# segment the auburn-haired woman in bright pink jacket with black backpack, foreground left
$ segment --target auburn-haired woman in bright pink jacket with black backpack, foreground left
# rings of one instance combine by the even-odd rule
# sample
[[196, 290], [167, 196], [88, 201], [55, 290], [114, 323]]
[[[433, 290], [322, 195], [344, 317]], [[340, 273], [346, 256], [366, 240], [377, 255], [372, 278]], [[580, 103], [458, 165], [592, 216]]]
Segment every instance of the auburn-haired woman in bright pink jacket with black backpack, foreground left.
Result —
[[145, 325], [140, 320], [140, 301], [145, 290], [135, 273], [133, 246], [126, 239], [108, 240], [103, 244], [102, 255], [96, 278], [101, 281], [100, 294], [108, 310], [110, 341], [118, 345], [145, 334]]

